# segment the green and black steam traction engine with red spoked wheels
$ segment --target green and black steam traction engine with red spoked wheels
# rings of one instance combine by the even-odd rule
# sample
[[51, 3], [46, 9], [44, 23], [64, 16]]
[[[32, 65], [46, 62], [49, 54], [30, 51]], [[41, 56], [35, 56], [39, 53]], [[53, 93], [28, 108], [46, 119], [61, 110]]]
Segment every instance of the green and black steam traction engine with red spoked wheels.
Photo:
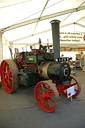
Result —
[[[56, 24], [58, 21], [53, 21], [53, 25]], [[72, 97], [75, 98], [81, 88], [76, 79], [70, 76], [68, 58], [59, 57], [59, 48], [58, 56], [55, 48], [54, 54], [48, 53], [46, 49], [46, 46], [40, 45], [39, 49], [32, 49], [32, 52], [16, 54], [13, 60], [3, 60], [1, 82], [7, 93], [16, 92], [20, 84], [36, 85], [35, 98], [38, 105], [44, 111], [51, 112], [56, 107], [58, 94], [67, 97], [67, 89], [74, 86], [75, 94]]]

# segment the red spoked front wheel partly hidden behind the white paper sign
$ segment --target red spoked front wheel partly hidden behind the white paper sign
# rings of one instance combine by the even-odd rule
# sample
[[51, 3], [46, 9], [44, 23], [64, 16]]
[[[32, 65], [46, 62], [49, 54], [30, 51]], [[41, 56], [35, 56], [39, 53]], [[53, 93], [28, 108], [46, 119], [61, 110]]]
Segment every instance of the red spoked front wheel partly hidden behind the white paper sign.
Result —
[[63, 85], [62, 94], [65, 97], [67, 97], [67, 89], [72, 86], [74, 86], [74, 91], [75, 91], [75, 94], [72, 96], [72, 98], [76, 98], [79, 95], [81, 91], [81, 85], [74, 77], [70, 76], [69, 85]]

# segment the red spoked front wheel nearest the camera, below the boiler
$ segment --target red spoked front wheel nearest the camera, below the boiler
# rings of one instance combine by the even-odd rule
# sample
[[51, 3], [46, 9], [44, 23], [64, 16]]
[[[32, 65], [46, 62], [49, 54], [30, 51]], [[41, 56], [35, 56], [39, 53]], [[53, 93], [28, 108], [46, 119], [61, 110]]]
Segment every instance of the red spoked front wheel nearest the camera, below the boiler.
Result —
[[52, 112], [56, 107], [56, 93], [49, 82], [41, 81], [35, 87], [35, 98], [40, 106], [46, 112]]

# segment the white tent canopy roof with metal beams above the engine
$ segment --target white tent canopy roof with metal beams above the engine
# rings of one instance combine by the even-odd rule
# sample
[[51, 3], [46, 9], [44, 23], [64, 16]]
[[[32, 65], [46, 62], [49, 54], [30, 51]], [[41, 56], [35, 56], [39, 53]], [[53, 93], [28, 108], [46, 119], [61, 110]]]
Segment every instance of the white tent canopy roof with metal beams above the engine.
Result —
[[85, 32], [85, 0], [0, 0], [0, 31], [13, 44], [52, 42], [54, 19], [61, 32]]

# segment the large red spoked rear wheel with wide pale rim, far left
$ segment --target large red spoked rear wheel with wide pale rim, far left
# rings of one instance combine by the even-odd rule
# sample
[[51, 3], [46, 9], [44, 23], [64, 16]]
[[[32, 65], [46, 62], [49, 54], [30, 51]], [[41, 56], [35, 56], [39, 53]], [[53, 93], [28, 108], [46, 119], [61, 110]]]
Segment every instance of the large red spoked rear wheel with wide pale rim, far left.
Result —
[[1, 63], [1, 82], [7, 93], [16, 92], [18, 84], [18, 69], [13, 60], [3, 60]]

